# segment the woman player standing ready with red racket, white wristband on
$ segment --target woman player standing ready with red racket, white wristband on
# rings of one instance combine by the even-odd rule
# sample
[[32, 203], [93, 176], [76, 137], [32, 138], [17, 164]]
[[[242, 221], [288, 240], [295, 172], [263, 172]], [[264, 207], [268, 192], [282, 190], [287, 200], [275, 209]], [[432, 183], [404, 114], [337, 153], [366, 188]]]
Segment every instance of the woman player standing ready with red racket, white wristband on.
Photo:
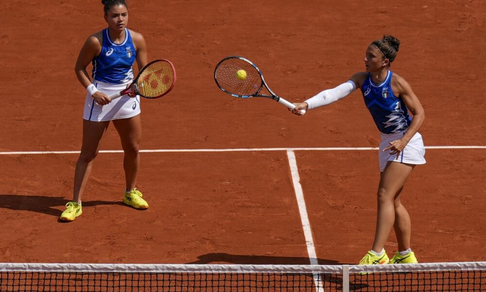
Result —
[[[81, 197], [110, 121], [120, 135], [124, 151], [126, 188], [123, 202], [136, 209], [148, 208], [141, 192], [135, 188], [141, 138], [140, 98], [124, 95], [111, 101], [108, 97], [131, 83], [135, 60], [139, 69], [148, 63], [145, 39], [126, 28], [128, 5], [125, 0], [102, 0], [102, 3], [108, 27], [87, 38], [75, 66], [76, 76], [87, 90], [83, 144], [74, 174], [73, 201], [66, 204], [66, 210], [60, 217], [62, 221], [72, 221], [82, 214]], [[86, 71], [89, 63], [93, 65], [92, 81]]]

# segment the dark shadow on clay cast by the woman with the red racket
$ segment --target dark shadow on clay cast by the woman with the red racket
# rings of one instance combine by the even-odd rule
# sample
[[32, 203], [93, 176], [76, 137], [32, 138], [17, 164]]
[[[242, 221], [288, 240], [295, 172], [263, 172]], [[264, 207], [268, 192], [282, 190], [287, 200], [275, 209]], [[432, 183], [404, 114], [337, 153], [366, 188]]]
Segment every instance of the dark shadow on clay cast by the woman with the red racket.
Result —
[[[61, 211], [53, 207], [66, 205], [69, 200], [63, 197], [46, 197], [31, 195], [0, 195], [0, 208], [31, 211], [59, 217]], [[83, 201], [83, 207], [96, 205], [123, 205], [121, 201]]]

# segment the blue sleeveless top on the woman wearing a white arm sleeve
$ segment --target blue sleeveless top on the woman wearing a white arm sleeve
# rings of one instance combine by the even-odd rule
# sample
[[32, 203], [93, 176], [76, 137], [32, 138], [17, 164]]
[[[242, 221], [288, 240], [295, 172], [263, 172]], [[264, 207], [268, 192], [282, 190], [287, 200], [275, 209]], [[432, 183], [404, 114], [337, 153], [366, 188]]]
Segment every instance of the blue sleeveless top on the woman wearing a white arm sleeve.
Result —
[[376, 127], [384, 134], [393, 134], [408, 129], [412, 118], [408, 114], [403, 99], [392, 91], [392, 75], [388, 70], [385, 80], [380, 84], [371, 81], [371, 74], [361, 86], [364, 104], [368, 108]]

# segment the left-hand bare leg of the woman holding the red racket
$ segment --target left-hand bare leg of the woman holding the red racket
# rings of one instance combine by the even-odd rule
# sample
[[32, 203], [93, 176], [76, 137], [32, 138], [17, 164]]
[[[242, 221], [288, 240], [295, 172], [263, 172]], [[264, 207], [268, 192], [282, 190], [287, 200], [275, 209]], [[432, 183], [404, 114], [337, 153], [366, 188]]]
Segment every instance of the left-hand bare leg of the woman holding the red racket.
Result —
[[91, 164], [96, 155], [98, 155], [101, 139], [109, 124], [109, 121], [92, 122], [83, 120], [83, 145], [81, 146], [81, 154], [74, 172], [73, 201], [78, 204], [81, 204], [81, 197], [91, 173]]

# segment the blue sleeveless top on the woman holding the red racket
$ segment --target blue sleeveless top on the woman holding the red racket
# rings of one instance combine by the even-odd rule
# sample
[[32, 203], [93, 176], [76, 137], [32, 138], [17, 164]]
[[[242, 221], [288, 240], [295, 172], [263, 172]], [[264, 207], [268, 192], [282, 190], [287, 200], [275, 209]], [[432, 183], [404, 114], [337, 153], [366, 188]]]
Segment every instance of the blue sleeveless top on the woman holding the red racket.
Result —
[[133, 79], [133, 63], [135, 62], [135, 46], [130, 32], [125, 28], [125, 39], [121, 44], [115, 44], [108, 35], [108, 29], [102, 32], [103, 44], [100, 55], [93, 63], [93, 79], [101, 82], [120, 84]]

